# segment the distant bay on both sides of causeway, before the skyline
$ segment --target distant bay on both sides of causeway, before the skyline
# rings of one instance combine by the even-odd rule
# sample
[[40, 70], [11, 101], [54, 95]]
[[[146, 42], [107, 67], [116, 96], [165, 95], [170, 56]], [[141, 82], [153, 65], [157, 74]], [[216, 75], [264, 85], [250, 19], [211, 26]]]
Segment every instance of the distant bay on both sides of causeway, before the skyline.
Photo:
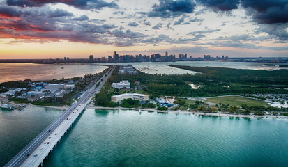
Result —
[[[12, 80], [31, 79], [33, 81], [83, 77], [84, 74], [102, 72], [107, 67], [98, 65], [111, 63], [95, 63], [93, 65], [42, 65], [29, 63], [0, 63], [0, 83]], [[194, 67], [230, 67], [251, 70], [278, 70], [285, 67], [265, 66], [264, 63], [252, 62], [220, 62], [220, 61], [177, 61], [177, 62], [142, 62], [142, 63], [116, 63], [116, 65], [131, 64], [142, 72], [151, 74], [195, 74], [195, 72], [182, 70], [167, 65], [188, 65]], [[283, 63], [282, 63], [283, 64]], [[286, 63], [287, 65], [287, 63]], [[62, 69], [63, 68], [63, 69]]]

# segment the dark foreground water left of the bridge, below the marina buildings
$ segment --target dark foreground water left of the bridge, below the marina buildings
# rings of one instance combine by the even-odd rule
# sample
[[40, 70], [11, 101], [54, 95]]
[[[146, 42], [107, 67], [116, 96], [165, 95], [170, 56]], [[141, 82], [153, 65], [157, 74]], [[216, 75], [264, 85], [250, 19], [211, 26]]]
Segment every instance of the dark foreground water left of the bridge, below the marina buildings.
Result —
[[0, 166], [7, 164], [62, 112], [32, 106], [22, 111], [0, 110]]

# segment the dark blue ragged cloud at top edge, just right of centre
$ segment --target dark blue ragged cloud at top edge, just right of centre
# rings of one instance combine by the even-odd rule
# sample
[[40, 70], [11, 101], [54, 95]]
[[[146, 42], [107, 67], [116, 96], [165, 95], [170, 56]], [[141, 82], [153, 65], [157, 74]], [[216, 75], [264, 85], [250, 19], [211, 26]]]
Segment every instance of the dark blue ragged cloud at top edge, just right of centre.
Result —
[[148, 17], [175, 17], [183, 13], [192, 13], [195, 3], [192, 0], [159, 0], [159, 4], [154, 4], [149, 13], [142, 13]]

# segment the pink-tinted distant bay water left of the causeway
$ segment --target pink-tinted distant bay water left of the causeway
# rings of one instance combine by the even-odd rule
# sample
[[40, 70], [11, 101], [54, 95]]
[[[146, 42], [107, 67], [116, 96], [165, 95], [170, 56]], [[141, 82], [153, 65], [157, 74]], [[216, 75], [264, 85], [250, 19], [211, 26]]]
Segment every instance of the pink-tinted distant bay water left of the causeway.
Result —
[[95, 74], [105, 70], [107, 66], [96, 65], [44, 65], [32, 63], [0, 63], [0, 83], [31, 79], [42, 81], [83, 77], [85, 74]]

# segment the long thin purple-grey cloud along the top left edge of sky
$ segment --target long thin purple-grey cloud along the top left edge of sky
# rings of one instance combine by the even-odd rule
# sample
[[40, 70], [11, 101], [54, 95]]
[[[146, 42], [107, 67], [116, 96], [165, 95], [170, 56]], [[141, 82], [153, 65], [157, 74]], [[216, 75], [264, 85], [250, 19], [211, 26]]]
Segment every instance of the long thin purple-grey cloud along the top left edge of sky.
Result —
[[114, 2], [108, 3], [103, 0], [7, 0], [8, 6], [43, 6], [47, 3], [65, 3], [76, 8], [83, 9], [101, 9], [101, 8], [117, 8], [118, 5]]

